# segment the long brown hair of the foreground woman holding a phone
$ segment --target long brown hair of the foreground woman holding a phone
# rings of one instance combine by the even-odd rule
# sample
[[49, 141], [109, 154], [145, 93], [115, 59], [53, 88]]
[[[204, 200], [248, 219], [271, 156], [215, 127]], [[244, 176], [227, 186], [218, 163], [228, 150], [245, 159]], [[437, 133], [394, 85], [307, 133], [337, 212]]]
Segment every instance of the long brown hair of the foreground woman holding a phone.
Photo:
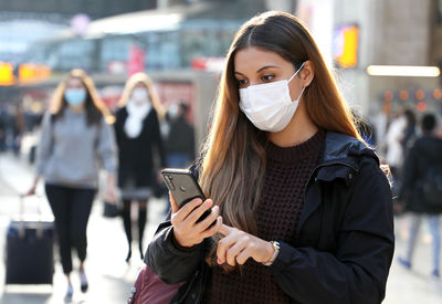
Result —
[[275, 52], [296, 70], [308, 60], [315, 71], [303, 97], [309, 118], [320, 128], [360, 136], [316, 43], [296, 17], [270, 11], [245, 22], [227, 55], [212, 127], [203, 149], [200, 184], [206, 195], [220, 206], [225, 224], [255, 234], [253, 214], [266, 167], [266, 135], [240, 111], [239, 86], [233, 74], [235, 53], [250, 46]]

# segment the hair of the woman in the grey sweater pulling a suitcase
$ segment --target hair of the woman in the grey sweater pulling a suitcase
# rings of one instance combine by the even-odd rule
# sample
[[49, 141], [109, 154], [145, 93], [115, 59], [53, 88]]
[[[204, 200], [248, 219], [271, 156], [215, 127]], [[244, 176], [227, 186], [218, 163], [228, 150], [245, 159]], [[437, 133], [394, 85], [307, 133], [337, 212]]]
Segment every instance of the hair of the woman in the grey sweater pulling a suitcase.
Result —
[[80, 69], [72, 70], [54, 91], [50, 108], [53, 119], [56, 120], [61, 118], [64, 114], [64, 109], [67, 107], [64, 93], [66, 91], [67, 82], [71, 78], [78, 78], [86, 88], [85, 111], [87, 125], [97, 125], [103, 116], [108, 124], [114, 123], [114, 116], [101, 101], [95, 90], [94, 82], [83, 70]]

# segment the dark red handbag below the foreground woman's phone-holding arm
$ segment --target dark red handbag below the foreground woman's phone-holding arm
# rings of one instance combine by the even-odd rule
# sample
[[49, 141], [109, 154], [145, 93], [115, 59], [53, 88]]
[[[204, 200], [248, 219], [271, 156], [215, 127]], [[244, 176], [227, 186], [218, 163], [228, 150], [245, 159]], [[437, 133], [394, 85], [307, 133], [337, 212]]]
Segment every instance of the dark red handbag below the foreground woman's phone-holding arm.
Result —
[[130, 290], [128, 304], [168, 304], [182, 285], [167, 284], [148, 265], [145, 265], [137, 275], [134, 287]]

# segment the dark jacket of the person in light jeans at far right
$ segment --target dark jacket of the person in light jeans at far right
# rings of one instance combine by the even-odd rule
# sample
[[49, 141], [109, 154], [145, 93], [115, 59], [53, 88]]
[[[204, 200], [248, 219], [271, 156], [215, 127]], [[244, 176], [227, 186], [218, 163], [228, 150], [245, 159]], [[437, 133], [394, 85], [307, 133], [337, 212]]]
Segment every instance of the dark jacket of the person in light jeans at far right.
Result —
[[422, 196], [422, 180], [430, 167], [442, 166], [442, 139], [434, 136], [418, 138], [403, 163], [403, 180], [399, 202], [406, 211], [414, 213], [442, 213], [442, 203], [429, 205]]

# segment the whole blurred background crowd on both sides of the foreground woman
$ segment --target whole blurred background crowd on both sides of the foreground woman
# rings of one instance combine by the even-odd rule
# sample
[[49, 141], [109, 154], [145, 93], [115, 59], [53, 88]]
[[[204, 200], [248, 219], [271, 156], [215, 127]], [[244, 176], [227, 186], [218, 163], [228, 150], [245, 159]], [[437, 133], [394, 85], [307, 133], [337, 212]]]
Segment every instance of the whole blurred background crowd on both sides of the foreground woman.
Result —
[[[61, 261], [69, 282], [66, 297], [72, 297], [74, 291], [70, 280], [72, 272], [70, 248], [72, 247], [77, 248], [81, 260], [81, 289], [87, 290], [87, 279], [83, 269], [87, 243], [85, 231], [98, 185], [95, 180], [86, 178], [91, 175], [91, 168], [96, 169], [93, 164], [94, 157], [92, 154], [85, 155], [86, 151], [96, 153], [101, 158], [101, 168], [108, 174], [105, 189], [101, 192], [104, 193], [105, 200], [119, 206], [118, 216], [123, 219], [123, 228], [127, 237], [126, 261], [128, 262], [133, 255], [134, 213], [137, 214], [135, 219], [139, 240], [137, 249], [143, 259], [145, 250], [143, 235], [147, 222], [148, 200], [152, 196], [166, 195], [159, 170], [165, 167], [188, 167], [196, 157], [194, 129], [188, 119], [189, 105], [177, 101], [165, 108], [150, 77], [145, 73], [138, 73], [127, 81], [118, 105], [110, 112], [101, 103], [93, 81], [83, 71], [74, 70], [55, 91], [51, 108], [46, 113], [23, 109], [20, 105], [3, 106], [0, 112], [0, 150], [12, 150], [17, 156], [23, 153], [29, 163], [38, 165], [38, 176], [29, 193], [34, 192], [40, 177], [45, 179], [45, 191], [60, 235]], [[86, 117], [83, 123], [78, 124], [76, 120], [78, 115]], [[417, 113], [404, 107], [399, 107], [392, 113], [385, 106], [369, 119], [357, 113], [354, 115], [362, 138], [376, 149], [382, 161], [390, 168], [397, 214], [407, 211], [414, 214], [407, 252], [399, 260], [403, 266], [411, 269], [421, 214], [428, 214], [429, 210], [415, 209], [412, 202], [414, 193], [408, 190], [419, 188], [422, 184], [424, 179], [422, 168], [425, 171], [425, 168], [433, 164], [442, 164], [439, 114]], [[102, 118], [106, 122], [104, 125], [99, 123]], [[429, 123], [429, 119], [432, 123]], [[107, 130], [103, 129], [104, 126]], [[86, 135], [95, 128], [98, 129], [98, 135], [94, 135], [95, 130], [91, 133], [91, 136]], [[420, 138], [429, 136], [434, 138], [436, 144], [427, 141], [422, 144]], [[91, 143], [85, 144], [88, 139]], [[425, 150], [419, 154], [433, 157], [427, 157], [432, 159], [431, 163], [413, 164], [417, 161], [417, 156], [411, 151], [417, 149], [417, 144], [423, 145]], [[72, 150], [74, 146], [78, 150]], [[60, 149], [59, 153], [57, 149]], [[53, 150], [52, 156], [50, 150]], [[54, 155], [59, 158], [54, 159]], [[90, 159], [91, 164], [86, 159]], [[69, 168], [65, 165], [67, 163], [73, 164], [75, 168]], [[60, 169], [63, 167], [65, 171]], [[420, 172], [413, 171], [415, 167], [420, 167]], [[84, 176], [78, 177], [78, 171], [82, 170], [84, 170]], [[73, 171], [75, 175], [72, 174]], [[96, 185], [96, 187], [90, 188], [91, 185]], [[66, 197], [87, 202], [87, 207], [78, 212], [69, 211], [75, 205], [72, 205], [71, 209], [61, 210], [56, 207], [57, 202], [66, 201]], [[77, 218], [67, 220], [66, 217], [72, 216], [69, 212]], [[167, 212], [167, 207], [165, 207], [165, 212]], [[440, 275], [440, 212], [442, 208], [430, 209], [430, 214], [433, 217], [429, 220], [434, 248], [432, 275], [438, 277]], [[76, 227], [70, 227], [73, 224]], [[76, 234], [69, 235], [70, 233]], [[66, 243], [67, 240], [72, 240], [73, 243]]]

